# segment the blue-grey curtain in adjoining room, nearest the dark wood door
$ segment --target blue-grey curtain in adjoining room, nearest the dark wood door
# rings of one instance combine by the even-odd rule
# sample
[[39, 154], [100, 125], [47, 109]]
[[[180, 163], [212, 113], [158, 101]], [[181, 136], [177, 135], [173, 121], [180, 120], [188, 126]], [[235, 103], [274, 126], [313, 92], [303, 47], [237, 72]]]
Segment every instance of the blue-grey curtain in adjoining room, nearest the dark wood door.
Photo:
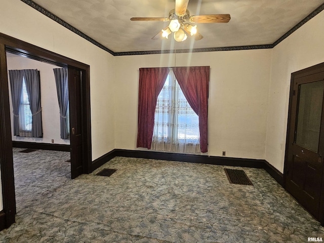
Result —
[[69, 90], [67, 68], [53, 68], [57, 97], [60, 108], [61, 139], [68, 139], [69, 135]]

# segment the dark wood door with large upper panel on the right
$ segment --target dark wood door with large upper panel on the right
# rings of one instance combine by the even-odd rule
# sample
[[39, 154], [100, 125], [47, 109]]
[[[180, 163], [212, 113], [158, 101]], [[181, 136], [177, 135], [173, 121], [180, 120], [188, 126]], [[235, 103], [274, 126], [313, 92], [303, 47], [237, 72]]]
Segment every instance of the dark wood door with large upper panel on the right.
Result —
[[324, 71], [296, 74], [292, 77], [292, 86], [285, 186], [319, 220], [324, 149]]

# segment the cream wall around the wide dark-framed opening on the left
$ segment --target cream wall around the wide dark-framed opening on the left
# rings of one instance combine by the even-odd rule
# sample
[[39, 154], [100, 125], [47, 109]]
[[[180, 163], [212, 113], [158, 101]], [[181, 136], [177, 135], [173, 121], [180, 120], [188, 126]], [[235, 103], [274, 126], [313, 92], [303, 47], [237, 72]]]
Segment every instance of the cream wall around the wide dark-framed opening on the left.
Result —
[[90, 65], [92, 159], [114, 149], [113, 56], [20, 0], [0, 0], [0, 32]]

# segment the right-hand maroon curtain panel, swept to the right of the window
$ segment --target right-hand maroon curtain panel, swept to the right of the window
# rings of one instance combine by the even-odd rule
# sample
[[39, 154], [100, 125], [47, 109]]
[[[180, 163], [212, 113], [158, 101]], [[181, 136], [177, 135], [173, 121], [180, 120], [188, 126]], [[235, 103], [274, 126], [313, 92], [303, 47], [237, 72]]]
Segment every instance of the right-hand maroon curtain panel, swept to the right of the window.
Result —
[[175, 67], [180, 88], [191, 108], [199, 117], [200, 149], [208, 151], [208, 89], [209, 66]]

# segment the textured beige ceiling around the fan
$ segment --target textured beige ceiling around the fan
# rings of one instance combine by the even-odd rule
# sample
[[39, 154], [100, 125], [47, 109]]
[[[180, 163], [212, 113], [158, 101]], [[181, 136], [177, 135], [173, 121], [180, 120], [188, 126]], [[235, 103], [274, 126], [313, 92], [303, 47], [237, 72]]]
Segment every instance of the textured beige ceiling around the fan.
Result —
[[323, 0], [189, 0], [190, 15], [230, 14], [231, 20], [197, 24], [203, 39], [176, 43], [173, 38], [151, 39], [168, 22], [130, 21], [168, 17], [175, 0], [33, 2], [115, 53], [271, 45], [323, 4]]

